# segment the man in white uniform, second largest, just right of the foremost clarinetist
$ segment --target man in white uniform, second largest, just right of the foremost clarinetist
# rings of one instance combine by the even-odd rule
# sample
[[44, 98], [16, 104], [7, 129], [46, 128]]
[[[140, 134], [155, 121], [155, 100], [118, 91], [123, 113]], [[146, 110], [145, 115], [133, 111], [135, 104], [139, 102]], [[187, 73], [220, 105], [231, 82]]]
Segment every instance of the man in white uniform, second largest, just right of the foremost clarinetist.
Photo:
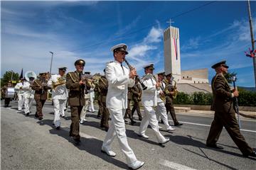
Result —
[[156, 120], [156, 113], [154, 107], [157, 106], [157, 89], [160, 88], [161, 84], [156, 82], [153, 75], [154, 64], [146, 64], [144, 66], [145, 76], [142, 78], [142, 82], [147, 88], [142, 91], [142, 106], [144, 106], [144, 116], [142, 118], [142, 123], [139, 127], [139, 136], [148, 139], [149, 137], [145, 135], [146, 128], [148, 125], [151, 126], [152, 130], [156, 135], [159, 144], [164, 144], [169, 142], [169, 138], [165, 138], [159, 132], [158, 120]]

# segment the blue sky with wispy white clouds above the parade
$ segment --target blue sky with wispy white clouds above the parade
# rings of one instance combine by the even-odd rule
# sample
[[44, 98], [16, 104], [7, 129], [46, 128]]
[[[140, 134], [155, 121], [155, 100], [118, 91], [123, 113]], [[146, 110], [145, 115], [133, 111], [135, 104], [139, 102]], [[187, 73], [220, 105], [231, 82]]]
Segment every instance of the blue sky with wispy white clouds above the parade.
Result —
[[[129, 47], [127, 60], [142, 76], [142, 66], [154, 62], [164, 70], [163, 30], [171, 18], [180, 30], [181, 69], [208, 68], [227, 60], [238, 73], [239, 86], [255, 86], [247, 1], [1, 1], [1, 76], [50, 70], [85, 60], [85, 71], [100, 72], [112, 61], [110, 48]], [[191, 11], [191, 9], [208, 4]], [[191, 11], [191, 12], [187, 12]], [[256, 28], [256, 1], [251, 1]], [[187, 13], [186, 13], [187, 12]]]

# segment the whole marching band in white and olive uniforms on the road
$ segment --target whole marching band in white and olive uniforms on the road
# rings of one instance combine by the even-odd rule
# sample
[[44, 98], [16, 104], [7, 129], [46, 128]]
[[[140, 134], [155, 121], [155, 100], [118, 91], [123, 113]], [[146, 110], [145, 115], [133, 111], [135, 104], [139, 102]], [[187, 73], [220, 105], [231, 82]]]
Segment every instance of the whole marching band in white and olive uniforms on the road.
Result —
[[[36, 101], [35, 116], [38, 120], [42, 120], [42, 108], [48, 98], [48, 91], [50, 90], [54, 110], [53, 125], [55, 125], [56, 130], [60, 130], [61, 128], [60, 116], [65, 118], [65, 107], [68, 101], [72, 122], [70, 125], [70, 137], [72, 137], [75, 145], [79, 145], [79, 124], [87, 121], [85, 118], [87, 111], [95, 112], [93, 101], [95, 98], [94, 93], [97, 91], [97, 100], [100, 104], [97, 117], [101, 118], [100, 128], [103, 128], [103, 130], [107, 132], [101, 151], [110, 157], [115, 157], [116, 154], [111, 144], [114, 137], [117, 137], [119, 147], [127, 159], [127, 166], [131, 169], [139, 169], [144, 165], [144, 162], [137, 160], [132, 148], [128, 145], [124, 115], [127, 113], [131, 124], [134, 125], [136, 122], [133, 120], [133, 115], [134, 112], [137, 111], [139, 121], [141, 121], [138, 131], [139, 137], [149, 138], [145, 132], [148, 125], [150, 125], [159, 145], [169, 142], [170, 139], [164, 137], [161, 135], [161, 132], [159, 132], [159, 120], [164, 123], [167, 131], [175, 130], [175, 128], [169, 125], [167, 113], [170, 112], [171, 118], [174, 120], [174, 126], [182, 125], [182, 123], [178, 123], [173, 106], [173, 100], [178, 93], [176, 82], [171, 73], [166, 74], [166, 72], [159, 72], [155, 76], [153, 74], [153, 63], [144, 66], [145, 75], [140, 79], [136, 69], [130, 66], [127, 60], [125, 60], [125, 55], [128, 54], [127, 45], [114, 45], [111, 50], [114, 61], [106, 64], [104, 69], [105, 75], [99, 77], [98, 81], [92, 79], [90, 72], [84, 74], [83, 69], [85, 67], [85, 61], [77, 60], [75, 61], [75, 72], [68, 72], [68, 74], [65, 74], [67, 67], [58, 68], [58, 74], [55, 75], [40, 73], [39, 76], [36, 77], [34, 72], [26, 72], [25, 78], [21, 79], [21, 82], [16, 84], [16, 86], [13, 87], [11, 82], [8, 82], [7, 86], [1, 89], [1, 96], [5, 96], [5, 107], [8, 107], [11, 98], [14, 97], [15, 91], [18, 95], [18, 111], [21, 111], [24, 106], [25, 115], [31, 113], [31, 105], [34, 99]], [[129, 69], [123, 65], [124, 61], [128, 64]], [[217, 63], [213, 68], [216, 69], [220, 66], [227, 68], [225, 63]], [[220, 72], [218, 72], [218, 74], [220, 74]], [[218, 79], [213, 82], [213, 87], [215, 87], [217, 81], [223, 81], [225, 83], [224, 79], [222, 74], [220, 74]], [[216, 88], [220, 89], [221, 87], [216, 85]], [[227, 89], [227, 91], [230, 91], [230, 89]], [[213, 89], [213, 93], [215, 93], [215, 89]], [[216, 93], [220, 93], [220, 91]], [[230, 95], [227, 98], [233, 98], [234, 94], [238, 96], [235, 92], [227, 93], [229, 94], [226, 95]], [[130, 109], [131, 101], [133, 101], [132, 111]], [[144, 112], [142, 113], [140, 111], [141, 104], [144, 108]], [[219, 105], [221, 105], [221, 103], [219, 103]], [[218, 108], [218, 106], [216, 107]], [[218, 111], [218, 113], [221, 112], [222, 111]], [[217, 142], [218, 139], [216, 139], [216, 137], [218, 138], [224, 125], [225, 128], [228, 128], [230, 136], [233, 137], [233, 140], [235, 140], [236, 144], [239, 146], [242, 154], [256, 157], [255, 152], [247, 145], [240, 134], [234, 118], [230, 119], [232, 119], [236, 125], [236, 132], [230, 128], [228, 121], [223, 122], [223, 118], [220, 118], [220, 116], [223, 115], [215, 115], [215, 120], [213, 121], [207, 140], [208, 147], [221, 149], [215, 145], [215, 142]], [[110, 119], [111, 121], [109, 121]], [[220, 124], [218, 134], [214, 129], [218, 124], [216, 122], [217, 119]], [[221, 121], [222, 123], [220, 123]], [[235, 137], [235, 134], [238, 134], [239, 139]], [[245, 145], [247, 149], [242, 149]]]

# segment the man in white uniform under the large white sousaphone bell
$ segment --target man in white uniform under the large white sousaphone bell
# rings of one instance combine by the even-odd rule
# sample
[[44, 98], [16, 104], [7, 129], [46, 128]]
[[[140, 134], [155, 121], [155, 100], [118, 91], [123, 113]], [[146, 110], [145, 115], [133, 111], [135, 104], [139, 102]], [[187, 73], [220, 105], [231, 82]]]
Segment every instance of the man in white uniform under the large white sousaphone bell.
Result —
[[33, 75], [28, 75], [28, 81], [24, 81], [23, 83], [23, 96], [24, 96], [24, 113], [25, 115], [29, 115], [31, 113], [30, 108], [33, 103], [33, 98], [35, 91], [31, 89], [31, 84], [33, 84], [33, 81], [35, 80], [36, 77], [33, 77]]

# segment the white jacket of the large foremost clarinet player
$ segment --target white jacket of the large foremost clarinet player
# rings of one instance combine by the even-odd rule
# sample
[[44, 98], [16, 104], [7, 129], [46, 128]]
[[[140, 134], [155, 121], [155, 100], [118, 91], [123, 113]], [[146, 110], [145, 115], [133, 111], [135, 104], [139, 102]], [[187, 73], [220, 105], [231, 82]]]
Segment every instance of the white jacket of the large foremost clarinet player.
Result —
[[117, 61], [106, 65], [108, 81], [107, 108], [127, 108], [128, 87], [134, 86], [134, 79], [129, 79], [129, 69]]

